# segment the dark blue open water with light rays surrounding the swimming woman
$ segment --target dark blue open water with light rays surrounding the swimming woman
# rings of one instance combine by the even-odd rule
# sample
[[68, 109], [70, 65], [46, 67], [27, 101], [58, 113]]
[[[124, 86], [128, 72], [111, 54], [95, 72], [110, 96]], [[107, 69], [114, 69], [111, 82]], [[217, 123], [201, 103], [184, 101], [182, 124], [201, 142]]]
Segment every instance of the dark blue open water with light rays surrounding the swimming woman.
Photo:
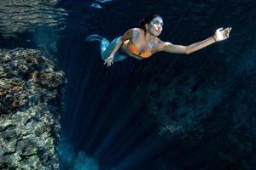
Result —
[[[38, 48], [65, 71], [61, 169], [255, 169], [255, 7], [252, 0], [63, 0], [55, 6], [65, 10], [60, 25], [14, 37], [3, 29], [0, 47]], [[160, 38], [175, 44], [232, 31], [193, 54], [109, 68], [99, 42], [84, 42], [95, 33], [112, 40], [148, 14], [162, 15]]]

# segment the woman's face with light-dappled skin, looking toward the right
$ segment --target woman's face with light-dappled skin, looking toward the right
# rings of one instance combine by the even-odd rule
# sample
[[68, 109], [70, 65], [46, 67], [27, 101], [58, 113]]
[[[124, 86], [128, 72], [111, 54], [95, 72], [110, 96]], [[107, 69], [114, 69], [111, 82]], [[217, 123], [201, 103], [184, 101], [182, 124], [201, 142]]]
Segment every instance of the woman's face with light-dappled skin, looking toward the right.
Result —
[[148, 32], [156, 37], [158, 37], [163, 30], [163, 20], [161, 17], [155, 17], [148, 24]]

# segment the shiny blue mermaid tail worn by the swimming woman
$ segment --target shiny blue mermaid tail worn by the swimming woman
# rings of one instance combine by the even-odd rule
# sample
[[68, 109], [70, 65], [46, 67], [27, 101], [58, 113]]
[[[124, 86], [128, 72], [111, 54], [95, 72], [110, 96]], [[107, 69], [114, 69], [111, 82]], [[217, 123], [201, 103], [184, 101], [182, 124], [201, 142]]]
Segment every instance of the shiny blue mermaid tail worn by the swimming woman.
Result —
[[[120, 37], [115, 38], [112, 42], [109, 42], [107, 38], [92, 34], [85, 38], [85, 41], [100, 41], [101, 42], [101, 54], [102, 59], [105, 60], [108, 58], [110, 53], [113, 51], [116, 43], [119, 42]], [[126, 59], [128, 56], [126, 54], [119, 54], [119, 51], [114, 55], [113, 62], [121, 61]]]

